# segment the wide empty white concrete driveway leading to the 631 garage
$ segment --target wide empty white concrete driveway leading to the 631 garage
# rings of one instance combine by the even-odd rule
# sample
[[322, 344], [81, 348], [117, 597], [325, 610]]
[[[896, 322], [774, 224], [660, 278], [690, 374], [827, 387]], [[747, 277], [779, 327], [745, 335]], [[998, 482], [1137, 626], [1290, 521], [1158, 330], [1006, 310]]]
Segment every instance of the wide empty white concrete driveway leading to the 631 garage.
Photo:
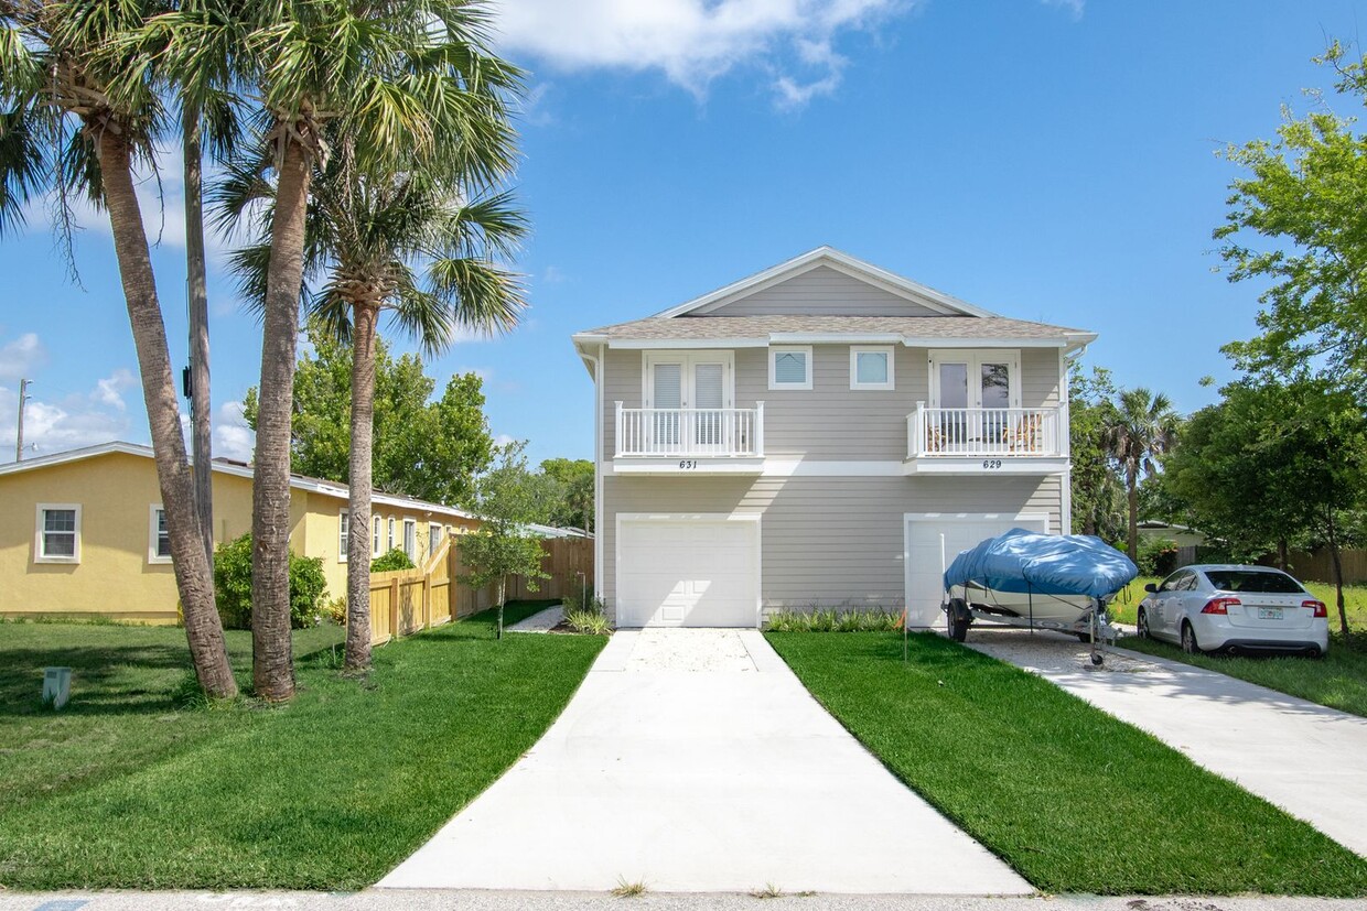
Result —
[[612, 636], [545, 736], [383, 888], [1027, 895], [752, 630]]

